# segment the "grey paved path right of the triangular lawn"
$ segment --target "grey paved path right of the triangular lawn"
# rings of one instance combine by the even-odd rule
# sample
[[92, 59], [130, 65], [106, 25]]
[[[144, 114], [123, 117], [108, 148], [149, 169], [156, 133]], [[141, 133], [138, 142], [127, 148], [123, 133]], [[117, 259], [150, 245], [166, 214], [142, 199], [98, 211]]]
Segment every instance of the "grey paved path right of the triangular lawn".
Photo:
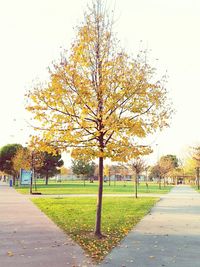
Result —
[[199, 267], [200, 194], [175, 187], [100, 267]]

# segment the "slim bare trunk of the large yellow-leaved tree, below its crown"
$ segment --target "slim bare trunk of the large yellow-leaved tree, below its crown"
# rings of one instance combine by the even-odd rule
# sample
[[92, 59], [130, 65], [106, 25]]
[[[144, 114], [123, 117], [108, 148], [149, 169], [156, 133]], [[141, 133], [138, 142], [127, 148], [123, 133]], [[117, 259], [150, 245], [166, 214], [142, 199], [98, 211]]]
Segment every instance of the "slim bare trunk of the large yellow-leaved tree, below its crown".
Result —
[[99, 190], [98, 190], [96, 226], [95, 226], [95, 235], [99, 238], [102, 237], [102, 234], [101, 234], [102, 195], [103, 195], [103, 157], [100, 157], [99, 158]]

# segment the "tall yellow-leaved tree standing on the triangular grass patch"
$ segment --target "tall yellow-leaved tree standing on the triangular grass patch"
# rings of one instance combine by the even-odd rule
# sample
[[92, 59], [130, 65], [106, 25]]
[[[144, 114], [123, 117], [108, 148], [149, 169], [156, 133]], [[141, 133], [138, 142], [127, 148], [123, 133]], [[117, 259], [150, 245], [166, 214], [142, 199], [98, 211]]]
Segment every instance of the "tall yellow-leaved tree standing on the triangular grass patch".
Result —
[[171, 116], [164, 80], [155, 78], [146, 55], [133, 59], [119, 47], [112, 26], [103, 1], [93, 1], [71, 51], [50, 71], [50, 82], [27, 94], [41, 149], [71, 147], [74, 158], [99, 159], [98, 237], [104, 159], [127, 161], [150, 153], [140, 138], [167, 126]]

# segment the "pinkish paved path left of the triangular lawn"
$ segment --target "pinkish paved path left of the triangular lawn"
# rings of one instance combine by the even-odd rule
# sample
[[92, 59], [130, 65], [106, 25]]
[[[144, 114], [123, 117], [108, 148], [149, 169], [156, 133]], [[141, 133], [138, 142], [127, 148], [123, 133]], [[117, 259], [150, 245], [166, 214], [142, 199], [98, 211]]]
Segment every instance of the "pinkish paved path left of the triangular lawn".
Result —
[[27, 197], [0, 182], [0, 267], [39, 266], [92, 263]]

